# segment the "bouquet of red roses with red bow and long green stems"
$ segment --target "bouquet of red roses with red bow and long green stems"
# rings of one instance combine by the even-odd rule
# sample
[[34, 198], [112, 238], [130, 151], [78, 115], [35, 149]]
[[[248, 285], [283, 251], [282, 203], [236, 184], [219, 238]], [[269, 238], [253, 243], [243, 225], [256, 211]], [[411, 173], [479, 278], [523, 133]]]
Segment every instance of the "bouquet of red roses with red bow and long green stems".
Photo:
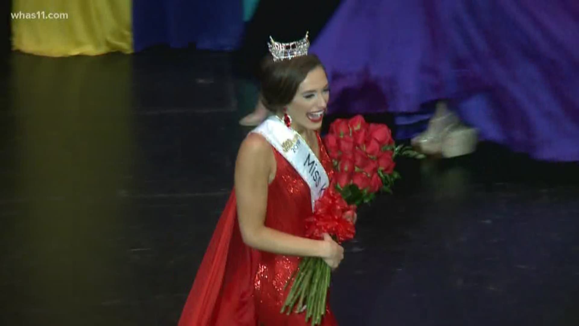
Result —
[[[306, 236], [321, 239], [324, 233], [341, 243], [356, 233], [353, 216], [356, 208], [375, 198], [378, 191], [391, 193], [400, 174], [394, 171], [398, 154], [419, 157], [405, 146], [396, 146], [386, 125], [368, 124], [357, 115], [349, 120], [336, 119], [324, 137], [336, 177], [320, 197], [314, 213], [306, 219]], [[325, 313], [331, 270], [321, 258], [306, 257], [286, 287], [293, 282], [281, 312], [306, 310], [306, 321], [321, 323]]]

